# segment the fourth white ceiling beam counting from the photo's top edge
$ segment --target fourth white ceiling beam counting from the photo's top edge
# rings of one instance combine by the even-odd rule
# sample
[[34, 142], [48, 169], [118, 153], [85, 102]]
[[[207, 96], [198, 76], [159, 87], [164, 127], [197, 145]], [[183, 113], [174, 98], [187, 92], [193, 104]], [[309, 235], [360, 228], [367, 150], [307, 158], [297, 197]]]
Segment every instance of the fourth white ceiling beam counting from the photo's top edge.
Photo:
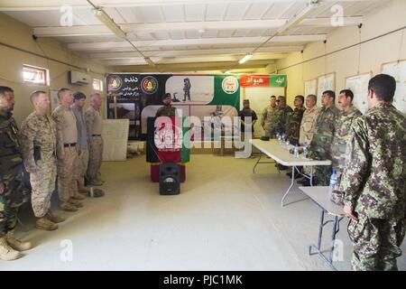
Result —
[[[254, 47], [245, 47], [245, 49], [253, 50]], [[271, 53], [271, 52], [291, 52], [302, 51], [304, 46], [274, 46], [274, 47], [262, 47], [256, 54]], [[185, 57], [185, 56], [198, 56], [198, 55], [222, 55], [222, 54], [244, 54], [241, 48], [228, 48], [228, 49], [202, 49], [202, 50], [180, 50], [180, 51], [143, 51], [143, 54], [147, 57]], [[273, 57], [277, 55], [283, 56], [284, 54], [272, 54]], [[89, 54], [90, 59], [97, 60], [119, 60], [134, 57], [141, 57], [142, 55], [137, 51], [128, 52], [100, 52]]]

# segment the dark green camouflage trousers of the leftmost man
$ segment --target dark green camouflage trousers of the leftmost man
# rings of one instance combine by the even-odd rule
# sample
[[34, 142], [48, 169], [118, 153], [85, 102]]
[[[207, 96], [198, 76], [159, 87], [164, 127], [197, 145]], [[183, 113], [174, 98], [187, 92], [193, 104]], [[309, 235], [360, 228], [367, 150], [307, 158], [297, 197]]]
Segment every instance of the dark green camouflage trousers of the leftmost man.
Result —
[[0, 238], [15, 228], [18, 208], [23, 204], [23, 193], [19, 190], [21, 182], [4, 178], [3, 183], [5, 191], [0, 193]]

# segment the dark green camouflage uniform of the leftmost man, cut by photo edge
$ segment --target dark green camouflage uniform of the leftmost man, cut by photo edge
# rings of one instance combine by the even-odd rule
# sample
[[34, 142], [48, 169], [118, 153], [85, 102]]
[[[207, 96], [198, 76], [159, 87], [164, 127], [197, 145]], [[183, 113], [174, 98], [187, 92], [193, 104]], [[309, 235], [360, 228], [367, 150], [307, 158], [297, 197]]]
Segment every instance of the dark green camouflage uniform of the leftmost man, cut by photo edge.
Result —
[[23, 203], [23, 159], [18, 127], [11, 113], [0, 110], [0, 238], [15, 228], [18, 208]]

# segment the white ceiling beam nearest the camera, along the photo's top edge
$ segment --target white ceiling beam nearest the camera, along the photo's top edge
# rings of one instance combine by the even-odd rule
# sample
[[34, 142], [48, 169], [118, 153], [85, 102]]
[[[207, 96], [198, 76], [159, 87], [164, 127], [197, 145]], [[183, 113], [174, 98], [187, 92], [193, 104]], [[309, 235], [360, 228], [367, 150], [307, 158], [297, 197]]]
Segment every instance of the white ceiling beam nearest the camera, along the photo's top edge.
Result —
[[[278, 2], [308, 2], [309, 0], [278, 0]], [[383, 0], [373, 0], [374, 2]], [[388, 2], [389, 0], [386, 0]], [[93, 0], [95, 5], [109, 7], [140, 7], [152, 5], [193, 5], [193, 4], [218, 4], [218, 0]], [[246, 3], [246, 0], [225, 0], [225, 3]], [[337, 0], [323, 0], [331, 4]], [[338, 2], [371, 2], [371, 0], [340, 0]], [[250, 0], [250, 3], [269, 4], [269, 0]], [[88, 8], [89, 5], [83, 0], [0, 0], [0, 11], [51, 11], [59, 10], [62, 5], [71, 5], [73, 8]]]

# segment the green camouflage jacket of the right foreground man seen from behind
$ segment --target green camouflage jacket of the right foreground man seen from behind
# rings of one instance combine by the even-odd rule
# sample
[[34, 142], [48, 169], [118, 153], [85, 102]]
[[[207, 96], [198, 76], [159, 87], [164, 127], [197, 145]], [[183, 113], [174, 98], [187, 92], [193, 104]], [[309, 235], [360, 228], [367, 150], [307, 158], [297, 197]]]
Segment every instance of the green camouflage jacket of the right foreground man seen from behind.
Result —
[[338, 191], [358, 215], [404, 218], [406, 119], [391, 104], [380, 104], [351, 128], [349, 157]]

